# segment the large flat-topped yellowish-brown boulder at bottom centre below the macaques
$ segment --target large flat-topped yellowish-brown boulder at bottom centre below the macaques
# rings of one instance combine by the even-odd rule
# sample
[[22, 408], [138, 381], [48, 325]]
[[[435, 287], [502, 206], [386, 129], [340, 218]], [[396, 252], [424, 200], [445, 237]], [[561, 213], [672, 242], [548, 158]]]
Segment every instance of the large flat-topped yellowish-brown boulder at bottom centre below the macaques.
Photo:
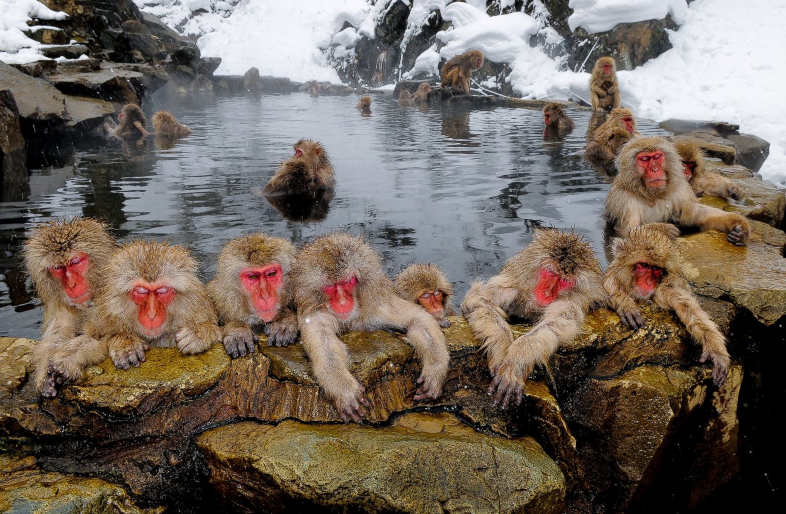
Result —
[[239, 512], [562, 512], [564, 477], [530, 437], [483, 435], [453, 414], [384, 428], [242, 422], [196, 439], [211, 486]]

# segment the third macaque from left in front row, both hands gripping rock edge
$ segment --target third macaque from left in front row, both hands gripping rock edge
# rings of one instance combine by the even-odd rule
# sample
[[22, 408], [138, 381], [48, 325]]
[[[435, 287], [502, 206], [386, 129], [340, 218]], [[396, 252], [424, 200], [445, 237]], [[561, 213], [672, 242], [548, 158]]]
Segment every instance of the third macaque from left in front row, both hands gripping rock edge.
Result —
[[268, 346], [297, 339], [288, 273], [295, 246], [262, 232], [241, 235], [222, 248], [208, 294], [222, 325], [224, 348], [233, 359], [255, 351], [255, 330], [263, 328]]

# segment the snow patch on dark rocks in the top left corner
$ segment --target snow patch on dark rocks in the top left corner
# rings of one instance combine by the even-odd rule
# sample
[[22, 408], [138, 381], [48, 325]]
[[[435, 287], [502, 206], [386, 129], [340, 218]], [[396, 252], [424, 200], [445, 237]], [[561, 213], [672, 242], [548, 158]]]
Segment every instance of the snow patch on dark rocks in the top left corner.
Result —
[[36, 0], [0, 0], [0, 13], [0, 60], [9, 64], [48, 59], [39, 52], [43, 45], [26, 34], [43, 27], [30, 27], [28, 21], [68, 17], [66, 13], [53, 11]]

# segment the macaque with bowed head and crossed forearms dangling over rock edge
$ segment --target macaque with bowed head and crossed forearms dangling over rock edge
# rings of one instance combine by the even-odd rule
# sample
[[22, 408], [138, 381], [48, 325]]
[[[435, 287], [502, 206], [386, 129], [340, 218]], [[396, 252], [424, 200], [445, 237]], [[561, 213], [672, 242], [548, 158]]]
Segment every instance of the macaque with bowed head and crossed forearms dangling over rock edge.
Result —
[[[486, 350], [494, 403], [520, 404], [535, 364], [547, 366], [556, 349], [578, 335], [589, 308], [604, 300], [601, 264], [573, 231], [539, 228], [499, 275], [472, 284], [461, 313]], [[516, 338], [509, 315], [535, 324]]]

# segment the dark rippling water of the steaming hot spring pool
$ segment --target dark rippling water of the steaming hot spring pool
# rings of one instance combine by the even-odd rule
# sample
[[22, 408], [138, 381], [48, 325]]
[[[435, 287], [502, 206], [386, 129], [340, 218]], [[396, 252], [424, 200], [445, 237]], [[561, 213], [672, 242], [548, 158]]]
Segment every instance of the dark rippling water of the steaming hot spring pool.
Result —
[[[222, 244], [245, 231], [301, 242], [349, 229], [383, 253], [388, 272], [438, 263], [459, 300], [538, 226], [585, 232], [604, 260], [608, 179], [582, 157], [588, 111], [569, 111], [573, 133], [544, 142], [539, 110], [421, 110], [378, 96], [372, 115], [360, 116], [357, 101], [293, 93], [156, 104], [194, 135], [174, 145], [150, 138], [33, 149], [44, 163], [31, 163], [29, 188], [14, 178], [22, 192], [0, 202], [0, 335], [38, 334], [42, 309], [19, 250], [31, 226], [51, 216], [101, 217], [121, 238], [183, 243], [202, 260], [204, 279]], [[639, 128], [659, 131], [645, 122]], [[325, 144], [335, 196], [271, 205], [261, 191], [303, 137]]]

